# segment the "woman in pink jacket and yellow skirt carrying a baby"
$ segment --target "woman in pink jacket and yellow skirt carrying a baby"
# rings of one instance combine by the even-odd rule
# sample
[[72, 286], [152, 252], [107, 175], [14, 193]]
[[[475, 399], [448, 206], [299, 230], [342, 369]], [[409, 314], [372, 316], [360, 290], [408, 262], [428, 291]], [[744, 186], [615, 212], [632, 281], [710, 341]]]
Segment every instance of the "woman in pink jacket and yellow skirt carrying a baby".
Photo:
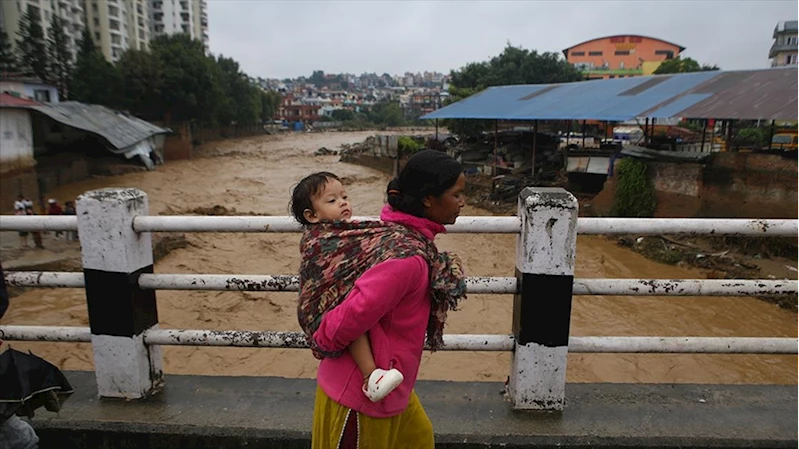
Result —
[[[421, 151], [389, 183], [381, 222], [339, 224], [350, 226], [345, 235], [324, 241], [315, 240], [314, 235], [303, 237], [306, 250], [325, 248], [325, 255], [337, 248], [330, 242], [342, 248], [356, 242], [348, 251], [332, 250], [335, 254], [328, 259], [338, 271], [301, 270], [301, 280], [310, 285], [314, 276], [324, 278], [330, 273], [335, 273], [331, 277], [336, 281], [347, 279], [352, 272], [339, 267], [351, 265], [352, 260], [352, 265], [371, 264], [349, 286], [333, 282], [317, 290], [342, 292], [345, 299], [321, 317], [310, 341], [322, 359], [317, 372], [314, 449], [434, 447], [432, 424], [413, 386], [425, 334], [431, 349], [441, 346], [446, 312], [465, 297], [460, 262], [438, 253], [433, 244], [436, 234], [445, 232], [444, 225], [458, 218], [465, 184], [457, 161], [442, 152]], [[357, 237], [352, 238], [353, 233]], [[308, 291], [309, 284], [301, 286], [301, 292]], [[301, 303], [302, 297], [301, 293]], [[396, 390], [374, 403], [361, 392], [361, 372], [344, 350], [365, 332], [377, 365], [397, 368], [405, 376]]]

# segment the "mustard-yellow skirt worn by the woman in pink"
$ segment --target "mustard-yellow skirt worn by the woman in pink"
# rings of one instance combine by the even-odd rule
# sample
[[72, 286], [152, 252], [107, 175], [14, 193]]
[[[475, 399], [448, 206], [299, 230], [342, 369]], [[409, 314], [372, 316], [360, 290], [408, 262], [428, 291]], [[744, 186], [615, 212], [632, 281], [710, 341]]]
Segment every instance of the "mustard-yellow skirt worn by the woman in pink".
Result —
[[[349, 423], [349, 426], [347, 424]], [[370, 418], [330, 399], [316, 386], [311, 449], [434, 449], [433, 424], [411, 392], [408, 408]]]

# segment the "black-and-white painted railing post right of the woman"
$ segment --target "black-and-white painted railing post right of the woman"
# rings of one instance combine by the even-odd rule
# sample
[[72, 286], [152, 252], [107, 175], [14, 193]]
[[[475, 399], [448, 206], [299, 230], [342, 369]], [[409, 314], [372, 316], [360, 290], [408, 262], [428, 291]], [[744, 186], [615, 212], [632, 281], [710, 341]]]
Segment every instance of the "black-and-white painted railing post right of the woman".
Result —
[[563, 410], [569, 347], [577, 199], [561, 188], [519, 193], [522, 229], [508, 393], [517, 410]]

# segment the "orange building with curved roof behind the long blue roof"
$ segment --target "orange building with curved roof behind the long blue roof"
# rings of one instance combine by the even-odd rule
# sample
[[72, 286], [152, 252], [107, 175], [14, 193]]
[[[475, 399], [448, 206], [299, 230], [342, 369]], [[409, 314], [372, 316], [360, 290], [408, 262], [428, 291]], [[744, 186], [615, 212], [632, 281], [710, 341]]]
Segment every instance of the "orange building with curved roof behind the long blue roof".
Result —
[[662, 39], [621, 34], [582, 42], [563, 54], [587, 78], [599, 79], [651, 75], [661, 62], [683, 51], [685, 47]]

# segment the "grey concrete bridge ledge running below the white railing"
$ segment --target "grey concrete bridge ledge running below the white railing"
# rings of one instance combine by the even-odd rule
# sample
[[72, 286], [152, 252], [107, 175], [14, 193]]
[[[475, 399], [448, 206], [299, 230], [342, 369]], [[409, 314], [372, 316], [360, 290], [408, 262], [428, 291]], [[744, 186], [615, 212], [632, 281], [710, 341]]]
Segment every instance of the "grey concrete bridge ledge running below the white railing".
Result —
[[[98, 399], [92, 372], [32, 420], [41, 449], [310, 446], [315, 383], [276, 377], [166, 376], [148, 399]], [[795, 448], [794, 386], [567, 384], [562, 413], [514, 412], [484, 382], [420, 382], [440, 448]], [[704, 402], [703, 402], [704, 401]]]

